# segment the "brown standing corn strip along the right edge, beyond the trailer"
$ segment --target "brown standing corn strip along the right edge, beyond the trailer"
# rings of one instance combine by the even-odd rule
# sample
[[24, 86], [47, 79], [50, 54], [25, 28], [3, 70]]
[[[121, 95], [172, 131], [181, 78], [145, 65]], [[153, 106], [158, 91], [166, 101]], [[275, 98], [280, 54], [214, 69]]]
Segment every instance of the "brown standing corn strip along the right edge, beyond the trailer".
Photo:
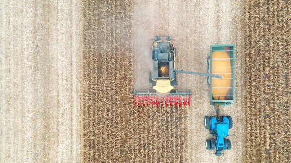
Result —
[[246, 3], [247, 163], [290, 163], [291, 1]]

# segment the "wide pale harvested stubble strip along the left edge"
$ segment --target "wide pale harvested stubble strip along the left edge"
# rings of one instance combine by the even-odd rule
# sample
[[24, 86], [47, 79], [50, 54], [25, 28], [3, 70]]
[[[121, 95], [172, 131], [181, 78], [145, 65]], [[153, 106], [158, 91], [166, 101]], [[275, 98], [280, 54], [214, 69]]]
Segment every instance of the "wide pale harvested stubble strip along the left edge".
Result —
[[81, 2], [0, 4], [0, 163], [81, 162]]

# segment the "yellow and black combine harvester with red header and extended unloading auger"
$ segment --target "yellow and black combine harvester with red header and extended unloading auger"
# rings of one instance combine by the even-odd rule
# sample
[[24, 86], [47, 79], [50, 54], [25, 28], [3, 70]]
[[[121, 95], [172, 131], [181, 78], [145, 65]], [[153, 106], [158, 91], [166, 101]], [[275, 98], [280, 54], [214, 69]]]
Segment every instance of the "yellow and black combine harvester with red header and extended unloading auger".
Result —
[[149, 82], [152, 89], [147, 91], [134, 90], [134, 104], [139, 106], [165, 104], [165, 106], [190, 106], [191, 90], [179, 92], [176, 73], [197, 74], [209, 78], [223, 78], [219, 74], [204, 74], [175, 69], [177, 50], [171, 42], [170, 36], [156, 36], [152, 45], [152, 71]]

